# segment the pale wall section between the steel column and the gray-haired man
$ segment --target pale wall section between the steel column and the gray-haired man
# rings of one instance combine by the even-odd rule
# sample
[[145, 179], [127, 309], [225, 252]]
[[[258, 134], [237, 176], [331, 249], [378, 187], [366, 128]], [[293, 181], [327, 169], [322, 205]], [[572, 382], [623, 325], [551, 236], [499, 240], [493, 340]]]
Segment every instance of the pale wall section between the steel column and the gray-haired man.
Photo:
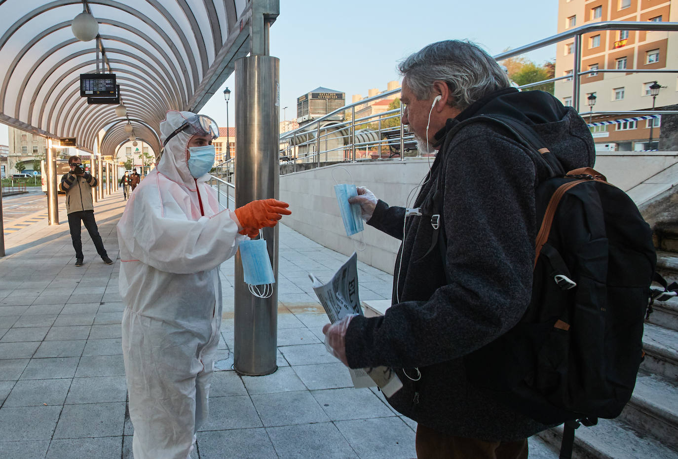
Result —
[[[348, 238], [339, 213], [334, 185], [355, 183], [369, 188], [377, 198], [389, 205], [410, 206], [414, 203], [418, 185], [428, 172], [428, 167], [428, 160], [425, 158], [407, 158], [405, 161], [344, 163], [281, 175], [280, 199], [289, 202], [292, 209], [292, 215], [286, 216], [283, 223], [344, 255], [351, 255], [361, 248], [354, 240], [364, 238], [365, 250], [357, 251], [358, 259], [393, 274], [400, 241], [366, 224], [363, 232], [354, 235], [353, 239]], [[407, 200], [408, 194], [410, 200]]]

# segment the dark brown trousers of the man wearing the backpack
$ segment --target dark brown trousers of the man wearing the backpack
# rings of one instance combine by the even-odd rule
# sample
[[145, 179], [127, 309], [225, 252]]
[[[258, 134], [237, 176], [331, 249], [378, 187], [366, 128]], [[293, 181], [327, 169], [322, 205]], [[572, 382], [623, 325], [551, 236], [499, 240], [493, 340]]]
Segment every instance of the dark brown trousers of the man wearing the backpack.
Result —
[[454, 437], [417, 426], [418, 459], [527, 459], [527, 439], [483, 441]]

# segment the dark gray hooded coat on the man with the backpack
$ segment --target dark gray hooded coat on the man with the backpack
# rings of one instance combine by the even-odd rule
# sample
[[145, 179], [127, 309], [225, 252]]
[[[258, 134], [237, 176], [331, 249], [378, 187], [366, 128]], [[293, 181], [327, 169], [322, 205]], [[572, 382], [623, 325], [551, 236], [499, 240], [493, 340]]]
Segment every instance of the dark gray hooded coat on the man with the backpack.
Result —
[[[470, 385], [463, 358], [510, 330], [527, 308], [538, 230], [534, 190], [546, 171], [498, 125], [477, 122], [451, 131], [461, 120], [486, 113], [532, 125], [566, 171], [593, 166], [593, 139], [586, 123], [541, 91], [502, 90], [448, 121], [439, 133], [443, 147], [431, 169], [433, 178], [422, 186], [415, 206], [437, 188], [439, 177], [451, 282], [439, 250], [426, 255], [433, 238], [430, 217], [408, 217], [396, 260], [393, 306], [381, 318], [351, 321], [346, 355], [351, 368], [406, 368], [415, 378], [418, 367], [418, 381], [398, 372], [404, 387], [388, 401], [426, 427], [512, 441], [548, 426]], [[380, 200], [368, 223], [402, 240], [403, 216], [403, 207]]]

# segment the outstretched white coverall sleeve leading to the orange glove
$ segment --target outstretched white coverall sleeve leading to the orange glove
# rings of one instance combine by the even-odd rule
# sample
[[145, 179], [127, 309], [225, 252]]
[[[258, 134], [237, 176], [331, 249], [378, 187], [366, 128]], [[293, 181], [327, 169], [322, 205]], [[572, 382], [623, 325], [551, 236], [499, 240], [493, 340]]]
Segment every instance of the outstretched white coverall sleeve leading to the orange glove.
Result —
[[[148, 199], [157, 190], [138, 191], [146, 196], [134, 196], [133, 205], [123, 215], [123, 219], [133, 221], [119, 225], [119, 237], [129, 248], [130, 261], [138, 260], [170, 273], [193, 274], [214, 269], [233, 257], [239, 242], [247, 237], [238, 234], [231, 211], [193, 221], [172, 197], [163, 196], [160, 202], [155, 196]], [[183, 204], [190, 206], [188, 202]]]

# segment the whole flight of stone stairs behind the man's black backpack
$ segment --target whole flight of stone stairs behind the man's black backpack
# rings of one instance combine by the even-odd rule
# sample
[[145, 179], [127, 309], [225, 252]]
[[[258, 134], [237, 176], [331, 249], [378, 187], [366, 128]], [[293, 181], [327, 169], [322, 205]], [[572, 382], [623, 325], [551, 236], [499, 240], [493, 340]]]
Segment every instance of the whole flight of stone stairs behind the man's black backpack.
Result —
[[[657, 270], [669, 283], [678, 281], [678, 232], [656, 231]], [[669, 251], [670, 250], [670, 251]], [[576, 430], [576, 459], [678, 458], [678, 299], [655, 302], [645, 322], [645, 359], [633, 397], [616, 419]], [[538, 435], [557, 458], [562, 427]]]

